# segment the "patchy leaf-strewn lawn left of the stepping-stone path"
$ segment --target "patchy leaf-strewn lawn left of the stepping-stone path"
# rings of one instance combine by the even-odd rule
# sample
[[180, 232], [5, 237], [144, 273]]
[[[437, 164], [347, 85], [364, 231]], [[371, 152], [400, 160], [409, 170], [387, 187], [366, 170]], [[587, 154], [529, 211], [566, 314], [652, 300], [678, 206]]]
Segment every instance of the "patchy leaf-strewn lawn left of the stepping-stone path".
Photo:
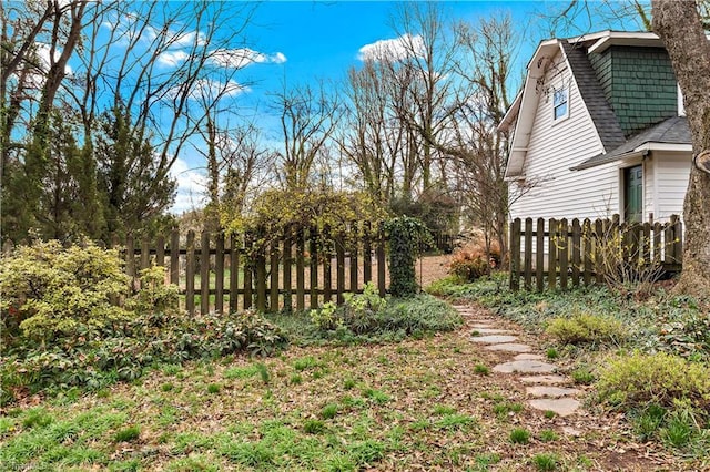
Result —
[[[681, 470], [618, 417], [525, 407], [473, 328], [164, 366], [0, 418], [4, 470]], [[530, 338], [529, 342], [535, 343]], [[478, 372], [478, 373], [476, 373]], [[527, 434], [526, 434], [527, 433]]]

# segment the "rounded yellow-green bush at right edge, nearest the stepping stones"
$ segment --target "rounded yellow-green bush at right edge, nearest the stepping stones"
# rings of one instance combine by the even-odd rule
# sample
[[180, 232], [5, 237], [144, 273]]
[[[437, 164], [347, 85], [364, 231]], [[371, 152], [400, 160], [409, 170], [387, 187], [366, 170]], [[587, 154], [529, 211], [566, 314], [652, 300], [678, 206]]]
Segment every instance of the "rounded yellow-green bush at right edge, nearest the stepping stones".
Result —
[[665, 352], [637, 352], [608, 362], [599, 373], [597, 392], [602, 402], [622, 410], [651, 404], [671, 408], [683, 399], [694, 408], [707, 409], [710, 369]]

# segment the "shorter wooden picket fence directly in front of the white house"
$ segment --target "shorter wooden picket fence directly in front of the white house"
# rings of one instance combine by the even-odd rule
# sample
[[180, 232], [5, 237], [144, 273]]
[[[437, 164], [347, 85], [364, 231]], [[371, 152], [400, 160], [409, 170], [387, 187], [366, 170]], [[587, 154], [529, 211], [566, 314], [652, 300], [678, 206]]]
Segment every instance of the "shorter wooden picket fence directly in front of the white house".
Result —
[[600, 264], [610, 239], [620, 242], [625, 263], [667, 271], [682, 268], [682, 223], [677, 215], [662, 224], [632, 225], [620, 224], [619, 215], [595, 222], [516, 218], [510, 223], [510, 289], [519, 290], [520, 281], [526, 290], [538, 291], [602, 283]]

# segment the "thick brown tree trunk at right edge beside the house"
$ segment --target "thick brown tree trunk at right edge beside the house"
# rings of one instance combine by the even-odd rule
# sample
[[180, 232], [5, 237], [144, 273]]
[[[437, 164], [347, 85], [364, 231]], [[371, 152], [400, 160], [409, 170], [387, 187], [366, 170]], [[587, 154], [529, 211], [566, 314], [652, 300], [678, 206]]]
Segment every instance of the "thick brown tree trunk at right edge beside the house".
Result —
[[[663, 40], [683, 92], [693, 154], [710, 151], [710, 42], [693, 0], [652, 0], [653, 31]], [[710, 174], [696, 165], [683, 205], [683, 270], [677, 290], [710, 296]]]

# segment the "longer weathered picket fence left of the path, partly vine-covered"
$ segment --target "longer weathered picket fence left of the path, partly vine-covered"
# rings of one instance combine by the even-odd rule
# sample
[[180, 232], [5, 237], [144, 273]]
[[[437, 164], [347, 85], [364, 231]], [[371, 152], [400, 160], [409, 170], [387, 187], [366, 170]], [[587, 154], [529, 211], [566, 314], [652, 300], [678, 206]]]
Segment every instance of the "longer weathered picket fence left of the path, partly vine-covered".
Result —
[[[372, 281], [386, 290], [385, 238], [382, 225], [352, 224], [343, 233], [290, 227], [278, 235], [189, 232], [135, 242], [128, 237], [125, 270], [138, 276], [151, 265], [166, 267], [166, 283], [180, 287], [185, 309], [194, 312], [256, 308], [303, 310], [327, 301], [343, 304]], [[268, 236], [265, 238], [265, 236]]]

